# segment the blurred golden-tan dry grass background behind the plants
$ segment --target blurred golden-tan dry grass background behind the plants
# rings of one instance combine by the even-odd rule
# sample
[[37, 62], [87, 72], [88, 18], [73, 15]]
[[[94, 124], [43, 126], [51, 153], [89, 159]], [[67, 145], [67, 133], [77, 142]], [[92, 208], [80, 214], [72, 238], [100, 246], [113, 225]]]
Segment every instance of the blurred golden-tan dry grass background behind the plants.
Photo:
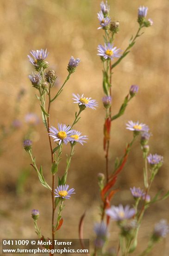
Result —
[[[150, 139], [151, 153], [164, 156], [164, 165], [157, 175], [150, 195], [158, 189], [169, 188], [169, 1], [152, 0], [112, 0], [109, 1], [112, 20], [120, 21], [120, 32], [115, 45], [122, 50], [131, 35], [137, 30], [137, 9], [139, 5], [149, 7], [148, 16], [154, 21], [153, 27], [144, 29], [145, 33], [113, 74], [113, 114], [119, 110], [131, 84], [139, 85], [139, 93], [126, 109], [125, 115], [113, 122], [110, 162], [122, 155], [125, 143], [131, 141], [132, 134], [125, 129], [128, 120], [142, 121], [149, 125], [153, 136]], [[63, 93], [52, 106], [51, 125], [57, 122], [71, 123], [77, 105], [73, 104], [72, 93], [84, 93], [99, 102], [96, 111], [87, 109], [82, 113], [76, 128], [89, 136], [85, 146], [77, 145], [73, 158], [69, 184], [76, 189], [75, 196], [66, 202], [63, 213], [64, 225], [58, 236], [77, 238], [79, 217], [88, 209], [85, 237], [91, 236], [93, 222], [99, 219], [97, 173], [104, 172], [102, 149], [102, 130], [104, 109], [102, 107], [101, 63], [97, 45], [103, 43], [102, 31], [97, 30], [97, 12], [100, 0], [1, 0], [0, 1], [0, 124], [8, 126], [13, 120], [13, 108], [21, 88], [26, 94], [21, 101], [19, 119], [30, 111], [40, 117], [40, 108], [31, 87], [28, 74], [31, 64], [27, 54], [31, 49], [47, 48], [50, 52], [50, 67], [58, 75], [57, 86], [67, 76], [67, 64], [71, 55], [81, 59], [67, 83]], [[56, 88], [54, 89], [56, 90]], [[54, 91], [53, 90], [53, 91]], [[54, 92], [53, 92], [54, 93]], [[0, 156], [0, 214], [2, 238], [36, 237], [30, 217], [31, 209], [38, 208], [41, 213], [39, 223], [42, 233], [50, 236], [48, 218], [51, 216], [50, 195], [38, 183], [38, 178], [29, 167], [30, 159], [22, 148], [27, 125], [17, 130], [3, 141], [6, 151]], [[3, 146], [1, 145], [1, 146]], [[66, 149], [69, 150], [69, 149]], [[67, 151], [68, 152], [68, 151]], [[50, 182], [50, 154], [48, 138], [40, 123], [33, 135], [33, 153], [38, 164], [44, 167], [44, 175]], [[60, 171], [65, 167], [65, 157]], [[143, 186], [143, 160], [139, 143], [132, 149], [129, 160], [119, 178], [121, 191], [114, 197], [114, 204], [132, 203], [129, 192], [131, 186]], [[16, 184], [23, 170], [29, 172], [24, 190], [16, 193]], [[148, 209], [139, 237], [138, 251], [146, 246], [153, 223], [160, 218], [169, 220], [169, 200], [156, 203]], [[44, 232], [44, 231], [45, 232]], [[117, 229], [113, 226], [112, 242], [116, 245]], [[153, 250], [153, 256], [169, 255], [169, 245], [162, 242]], [[133, 254], [135, 256], [138, 253]]]

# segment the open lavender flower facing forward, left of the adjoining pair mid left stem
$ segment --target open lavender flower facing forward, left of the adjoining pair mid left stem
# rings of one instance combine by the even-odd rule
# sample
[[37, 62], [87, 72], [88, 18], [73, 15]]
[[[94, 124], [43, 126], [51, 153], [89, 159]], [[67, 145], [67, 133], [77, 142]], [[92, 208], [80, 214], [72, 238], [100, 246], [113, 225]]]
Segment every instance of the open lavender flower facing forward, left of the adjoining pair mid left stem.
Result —
[[70, 126], [66, 126], [65, 124], [58, 123], [58, 129], [51, 126], [49, 128], [49, 135], [54, 139], [54, 141], [58, 141], [59, 145], [63, 142], [64, 144], [68, 144], [69, 141], [73, 141], [74, 139], [71, 137], [73, 135], [73, 130], [71, 130]]

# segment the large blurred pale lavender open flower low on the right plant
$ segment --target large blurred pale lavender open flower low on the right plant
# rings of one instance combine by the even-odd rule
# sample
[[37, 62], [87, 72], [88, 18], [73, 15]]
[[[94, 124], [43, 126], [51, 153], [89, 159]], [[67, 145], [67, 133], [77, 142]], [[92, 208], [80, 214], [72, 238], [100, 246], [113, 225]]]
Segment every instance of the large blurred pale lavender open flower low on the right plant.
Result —
[[110, 216], [115, 221], [122, 221], [125, 219], [131, 219], [135, 215], [136, 211], [134, 208], [130, 209], [129, 205], [126, 205], [125, 208], [122, 204], [119, 206], [112, 206], [110, 209], [106, 210], [106, 215]]

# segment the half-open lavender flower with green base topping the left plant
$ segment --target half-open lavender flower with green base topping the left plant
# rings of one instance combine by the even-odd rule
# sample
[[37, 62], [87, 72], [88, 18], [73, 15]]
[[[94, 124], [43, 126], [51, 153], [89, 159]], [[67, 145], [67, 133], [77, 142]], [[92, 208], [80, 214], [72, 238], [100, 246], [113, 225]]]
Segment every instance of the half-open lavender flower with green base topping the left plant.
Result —
[[29, 58], [29, 61], [31, 62], [31, 64], [33, 64], [35, 67], [40, 68], [40, 67], [48, 67], [48, 62], [44, 61], [48, 54], [47, 53], [47, 49], [40, 49], [40, 50], [31, 50], [31, 55], [33, 56], [33, 58], [30, 55], [27, 55]]

